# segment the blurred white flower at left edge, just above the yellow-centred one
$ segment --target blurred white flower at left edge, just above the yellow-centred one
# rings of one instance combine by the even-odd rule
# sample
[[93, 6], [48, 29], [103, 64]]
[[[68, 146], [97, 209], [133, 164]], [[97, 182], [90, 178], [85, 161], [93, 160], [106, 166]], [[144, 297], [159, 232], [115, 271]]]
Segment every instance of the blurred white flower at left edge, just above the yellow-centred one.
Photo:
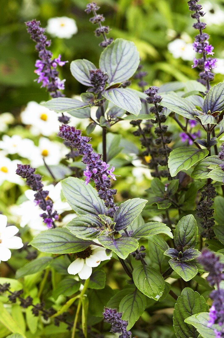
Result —
[[22, 139], [19, 135], [12, 135], [12, 137], [3, 135], [0, 148], [5, 150], [7, 154], [19, 154], [29, 158], [28, 154], [32, 153], [36, 147], [32, 140]]

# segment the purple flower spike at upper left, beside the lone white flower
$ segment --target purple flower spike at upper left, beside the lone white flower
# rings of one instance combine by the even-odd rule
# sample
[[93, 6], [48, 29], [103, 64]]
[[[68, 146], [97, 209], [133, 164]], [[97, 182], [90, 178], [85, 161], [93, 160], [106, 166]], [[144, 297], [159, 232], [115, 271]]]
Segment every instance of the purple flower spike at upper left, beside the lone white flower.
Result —
[[60, 80], [56, 67], [64, 66], [66, 62], [61, 61], [61, 55], [52, 58], [52, 52], [47, 50], [51, 41], [47, 40], [46, 35], [44, 35], [45, 29], [40, 27], [40, 21], [28, 21], [26, 25], [31, 39], [36, 42], [36, 50], [39, 52], [40, 59], [35, 63], [35, 67], [37, 67], [35, 73], [39, 76], [37, 82], [41, 82], [41, 87], [45, 87], [52, 97], [63, 96], [60, 90], [64, 89], [65, 80]]

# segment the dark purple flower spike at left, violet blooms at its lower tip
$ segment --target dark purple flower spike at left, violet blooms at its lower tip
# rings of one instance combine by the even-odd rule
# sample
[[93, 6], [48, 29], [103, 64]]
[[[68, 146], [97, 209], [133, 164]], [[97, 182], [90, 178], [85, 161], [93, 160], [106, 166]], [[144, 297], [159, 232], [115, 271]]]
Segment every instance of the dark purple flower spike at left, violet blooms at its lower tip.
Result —
[[58, 220], [59, 216], [57, 211], [53, 210], [53, 202], [49, 198], [49, 191], [43, 190], [43, 184], [41, 182], [41, 176], [35, 174], [35, 169], [29, 164], [18, 164], [16, 173], [22, 178], [26, 178], [26, 184], [33, 190], [36, 191], [34, 194], [34, 201], [43, 210], [46, 211], [40, 216], [43, 217], [44, 223], [50, 229], [55, 227], [54, 220]]

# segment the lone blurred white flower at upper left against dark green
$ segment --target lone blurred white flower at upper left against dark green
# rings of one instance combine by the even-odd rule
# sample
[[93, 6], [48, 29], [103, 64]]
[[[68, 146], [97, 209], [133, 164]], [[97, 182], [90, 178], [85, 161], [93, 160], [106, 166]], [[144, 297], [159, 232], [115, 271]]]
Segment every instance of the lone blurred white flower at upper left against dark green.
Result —
[[53, 37], [70, 39], [78, 29], [74, 19], [68, 17], [51, 18], [47, 21], [46, 31]]

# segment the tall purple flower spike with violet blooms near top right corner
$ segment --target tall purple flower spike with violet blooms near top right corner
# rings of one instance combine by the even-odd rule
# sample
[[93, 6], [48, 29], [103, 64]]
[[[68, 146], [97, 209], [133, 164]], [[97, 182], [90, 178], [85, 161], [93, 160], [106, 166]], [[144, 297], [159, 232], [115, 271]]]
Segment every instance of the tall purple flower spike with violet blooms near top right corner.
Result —
[[202, 32], [202, 30], [206, 27], [206, 23], [200, 22], [200, 17], [203, 17], [205, 13], [201, 10], [202, 6], [197, 4], [198, 1], [199, 0], [188, 1], [189, 9], [194, 12], [191, 17], [197, 20], [197, 22], [193, 24], [193, 27], [199, 30], [199, 34], [195, 36], [193, 48], [197, 53], [202, 54], [201, 58], [194, 58], [194, 64], [192, 67], [199, 67], [200, 69], [203, 69], [199, 76], [206, 83], [207, 90], [209, 90], [209, 81], [214, 79], [214, 74], [211, 70], [216, 67], [215, 64], [217, 62], [217, 58], [207, 57], [207, 55], [214, 54], [214, 47], [209, 44], [209, 35]]

